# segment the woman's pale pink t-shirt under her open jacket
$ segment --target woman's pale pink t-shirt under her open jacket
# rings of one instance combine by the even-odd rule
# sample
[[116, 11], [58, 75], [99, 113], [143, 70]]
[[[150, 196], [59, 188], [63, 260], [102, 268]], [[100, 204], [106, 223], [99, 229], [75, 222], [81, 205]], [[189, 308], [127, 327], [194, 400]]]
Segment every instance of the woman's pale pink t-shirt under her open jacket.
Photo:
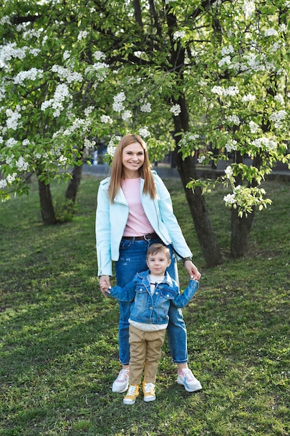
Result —
[[154, 228], [147, 219], [141, 203], [140, 178], [122, 179], [121, 187], [129, 205], [129, 217], [124, 236], [143, 236], [153, 233]]

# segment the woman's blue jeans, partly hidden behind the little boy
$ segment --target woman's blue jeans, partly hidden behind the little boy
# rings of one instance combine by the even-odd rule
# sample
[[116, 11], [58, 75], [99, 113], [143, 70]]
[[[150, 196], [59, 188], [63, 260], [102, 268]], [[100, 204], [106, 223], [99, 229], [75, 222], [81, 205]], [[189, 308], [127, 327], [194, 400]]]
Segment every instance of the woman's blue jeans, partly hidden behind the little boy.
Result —
[[[118, 286], [124, 288], [136, 274], [147, 270], [146, 253], [147, 248], [161, 240], [153, 239], [146, 240], [126, 240], [122, 239], [120, 244], [120, 258], [115, 263], [115, 276]], [[177, 261], [172, 252], [172, 248], [168, 246], [171, 254], [171, 263], [168, 267], [168, 273], [178, 283]], [[123, 365], [129, 364], [129, 316], [131, 302], [119, 302], [120, 320], [119, 320], [119, 356]], [[177, 364], [183, 364], [188, 361], [187, 354], [187, 336], [184, 319], [182, 317], [182, 309], [177, 308], [173, 304], [170, 305], [169, 323], [167, 327], [168, 343], [172, 361]]]

